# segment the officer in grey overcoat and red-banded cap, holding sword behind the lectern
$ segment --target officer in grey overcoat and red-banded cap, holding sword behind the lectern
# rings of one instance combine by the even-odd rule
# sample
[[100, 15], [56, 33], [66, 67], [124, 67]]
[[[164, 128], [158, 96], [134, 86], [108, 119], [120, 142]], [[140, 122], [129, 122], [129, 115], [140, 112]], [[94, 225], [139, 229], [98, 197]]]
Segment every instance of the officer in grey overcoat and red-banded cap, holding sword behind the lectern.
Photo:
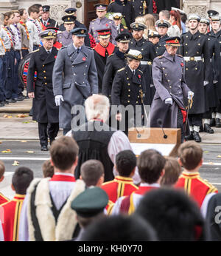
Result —
[[177, 55], [180, 38], [166, 39], [166, 52], [158, 56], [152, 63], [152, 78], [155, 95], [150, 108], [150, 127], [180, 128], [181, 138], [184, 140], [184, 124], [186, 124], [186, 110], [184, 97], [194, 95], [187, 87], [184, 72], [185, 61]]

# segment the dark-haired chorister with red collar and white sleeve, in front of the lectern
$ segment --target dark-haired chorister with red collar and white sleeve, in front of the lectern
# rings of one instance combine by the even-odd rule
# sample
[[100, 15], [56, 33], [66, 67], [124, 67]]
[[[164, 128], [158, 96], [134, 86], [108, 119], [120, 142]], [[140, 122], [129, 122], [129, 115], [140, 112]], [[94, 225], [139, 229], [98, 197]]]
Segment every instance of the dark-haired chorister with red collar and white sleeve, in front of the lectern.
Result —
[[164, 175], [165, 162], [163, 155], [155, 149], [148, 149], [141, 152], [141, 155], [137, 159], [138, 173], [141, 177], [138, 190], [132, 192], [130, 195], [119, 198], [113, 206], [111, 214], [133, 214], [144, 194], [152, 189], [160, 188], [161, 178]]

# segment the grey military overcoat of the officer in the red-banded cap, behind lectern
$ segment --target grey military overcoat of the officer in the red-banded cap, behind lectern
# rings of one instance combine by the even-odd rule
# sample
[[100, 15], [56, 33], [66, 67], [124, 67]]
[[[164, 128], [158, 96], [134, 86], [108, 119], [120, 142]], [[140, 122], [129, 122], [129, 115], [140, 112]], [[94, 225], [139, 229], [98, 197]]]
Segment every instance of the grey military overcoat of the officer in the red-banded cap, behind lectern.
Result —
[[[158, 127], [158, 118], [163, 121], [163, 127], [177, 128], [178, 107], [185, 110], [183, 98], [188, 95], [184, 76], [185, 61], [180, 55], [175, 60], [167, 51], [154, 59], [152, 63], [152, 78], [155, 95], [150, 107], [150, 127]], [[166, 98], [172, 98], [173, 104], [165, 104]]]

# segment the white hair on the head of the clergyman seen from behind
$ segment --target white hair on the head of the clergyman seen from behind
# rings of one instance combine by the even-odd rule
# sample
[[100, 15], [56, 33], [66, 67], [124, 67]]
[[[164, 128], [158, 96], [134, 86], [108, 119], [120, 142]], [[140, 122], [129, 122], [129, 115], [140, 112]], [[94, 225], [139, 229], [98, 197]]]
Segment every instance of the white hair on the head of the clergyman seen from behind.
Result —
[[104, 122], [108, 119], [110, 110], [110, 101], [105, 95], [92, 95], [85, 100], [85, 113], [89, 120], [102, 119]]

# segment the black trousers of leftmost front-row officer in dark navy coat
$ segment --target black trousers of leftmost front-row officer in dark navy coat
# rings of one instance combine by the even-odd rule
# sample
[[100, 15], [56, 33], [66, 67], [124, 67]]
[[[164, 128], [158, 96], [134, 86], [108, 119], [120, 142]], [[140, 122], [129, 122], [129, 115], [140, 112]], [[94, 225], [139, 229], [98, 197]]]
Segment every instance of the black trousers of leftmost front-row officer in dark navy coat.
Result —
[[38, 135], [41, 146], [48, 145], [48, 138], [50, 140], [55, 139], [59, 132], [59, 123], [38, 123]]

